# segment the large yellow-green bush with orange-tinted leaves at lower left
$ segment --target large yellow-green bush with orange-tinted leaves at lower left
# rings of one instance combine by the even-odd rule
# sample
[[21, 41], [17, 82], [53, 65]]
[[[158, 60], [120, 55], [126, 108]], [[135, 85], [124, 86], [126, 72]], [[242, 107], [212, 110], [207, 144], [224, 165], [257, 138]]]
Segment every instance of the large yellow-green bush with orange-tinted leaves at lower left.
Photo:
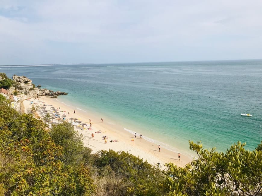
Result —
[[[0, 191], [4, 195], [90, 195], [95, 185], [81, 162], [64, 164], [64, 147], [46, 125], [0, 103]], [[72, 155], [73, 156], [73, 155]]]

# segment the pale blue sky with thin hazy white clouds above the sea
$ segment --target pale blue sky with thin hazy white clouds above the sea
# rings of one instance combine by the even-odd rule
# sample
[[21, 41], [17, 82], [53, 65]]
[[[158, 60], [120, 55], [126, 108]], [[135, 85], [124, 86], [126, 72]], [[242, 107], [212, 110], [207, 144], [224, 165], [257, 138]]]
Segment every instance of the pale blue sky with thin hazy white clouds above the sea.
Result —
[[261, 59], [261, 8], [261, 0], [1, 0], [0, 65]]

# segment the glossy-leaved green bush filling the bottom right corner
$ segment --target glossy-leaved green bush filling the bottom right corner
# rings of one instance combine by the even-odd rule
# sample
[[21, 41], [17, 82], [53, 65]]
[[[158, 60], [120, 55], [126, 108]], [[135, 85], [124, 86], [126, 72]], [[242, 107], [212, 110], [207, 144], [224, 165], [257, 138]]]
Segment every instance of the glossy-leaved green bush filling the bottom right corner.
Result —
[[189, 141], [198, 159], [179, 168], [167, 164], [163, 183], [167, 195], [261, 195], [262, 151], [248, 151], [236, 143], [218, 153]]

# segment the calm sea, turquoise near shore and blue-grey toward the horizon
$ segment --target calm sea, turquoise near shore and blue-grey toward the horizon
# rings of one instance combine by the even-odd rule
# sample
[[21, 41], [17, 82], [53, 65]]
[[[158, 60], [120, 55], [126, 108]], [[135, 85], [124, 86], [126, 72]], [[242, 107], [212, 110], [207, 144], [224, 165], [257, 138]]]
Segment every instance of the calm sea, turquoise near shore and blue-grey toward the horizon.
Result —
[[169, 147], [202, 140], [224, 151], [238, 140], [248, 149], [260, 141], [262, 60], [0, 66], [0, 72], [68, 92], [59, 100]]

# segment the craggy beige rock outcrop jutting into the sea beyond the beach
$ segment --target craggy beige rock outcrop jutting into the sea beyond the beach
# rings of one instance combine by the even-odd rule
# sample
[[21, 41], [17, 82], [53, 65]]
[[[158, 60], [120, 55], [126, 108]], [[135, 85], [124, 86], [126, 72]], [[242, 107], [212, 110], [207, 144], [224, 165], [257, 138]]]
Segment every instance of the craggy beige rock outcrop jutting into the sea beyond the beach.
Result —
[[20, 94], [25, 94], [30, 97], [38, 97], [38, 96], [50, 96], [51, 98], [56, 98], [58, 95], [67, 95], [66, 92], [60, 92], [60, 91], [51, 91], [48, 89], [39, 89], [36, 88], [34, 84], [32, 84], [32, 80], [25, 76], [13, 76], [13, 80], [15, 81], [15, 84], [13, 87], [11, 87], [11, 92], [17, 91]]

